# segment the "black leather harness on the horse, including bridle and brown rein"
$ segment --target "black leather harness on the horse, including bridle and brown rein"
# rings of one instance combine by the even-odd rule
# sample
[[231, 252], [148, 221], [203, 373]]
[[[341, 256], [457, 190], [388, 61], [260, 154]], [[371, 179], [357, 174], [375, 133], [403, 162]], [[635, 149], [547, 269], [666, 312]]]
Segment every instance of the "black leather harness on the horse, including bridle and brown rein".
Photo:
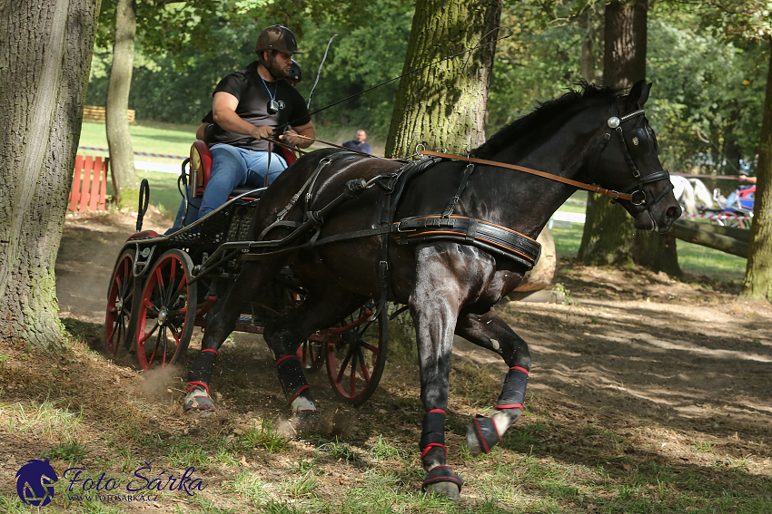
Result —
[[[258, 259], [261, 257], [267, 257], [269, 255], [276, 255], [279, 253], [285, 253], [297, 249], [312, 249], [313, 247], [319, 247], [329, 243], [342, 241], [353, 238], [365, 238], [371, 236], [379, 236], [381, 240], [381, 260], [378, 263], [377, 274], [379, 286], [381, 288], [381, 299], [378, 303], [378, 307], [372, 314], [371, 319], [375, 319], [386, 305], [386, 301], [391, 294], [391, 269], [389, 263], [389, 238], [393, 238], [397, 244], [406, 245], [410, 243], [417, 243], [423, 241], [458, 241], [461, 244], [471, 245], [479, 247], [480, 249], [493, 254], [496, 257], [507, 258], [518, 263], [524, 267], [526, 271], [532, 269], [536, 262], [539, 260], [541, 253], [541, 246], [537, 241], [529, 238], [515, 230], [506, 227], [500, 227], [490, 221], [478, 218], [469, 218], [465, 216], [454, 216], [453, 210], [458, 203], [461, 194], [466, 188], [467, 182], [470, 179], [471, 174], [474, 171], [474, 164], [485, 164], [495, 166], [499, 168], [507, 168], [510, 170], [520, 170], [532, 175], [544, 177], [546, 179], [556, 180], [574, 186], [579, 189], [586, 189], [601, 195], [608, 196], [611, 201], [614, 202], [619, 199], [629, 200], [633, 205], [647, 205], [645, 209], [650, 209], [651, 206], [656, 204], [660, 199], [663, 199], [669, 191], [673, 189], [672, 184], [668, 184], [662, 192], [660, 192], [657, 198], [651, 202], [647, 202], [646, 192], [643, 191], [645, 184], [655, 182], [658, 180], [669, 179], [669, 173], [667, 170], [659, 170], [650, 173], [645, 176], [641, 176], [640, 172], [635, 166], [633, 158], [630, 154], [628, 141], [625, 138], [625, 134], [622, 130], [622, 124], [628, 121], [638, 121], [636, 127], [631, 132], [636, 134], [631, 139], [632, 144], [636, 147], [646, 143], [649, 145], [647, 151], [656, 150], [657, 144], [653, 137], [653, 133], [648, 126], [648, 121], [644, 116], [642, 109], [638, 109], [636, 112], [631, 112], [622, 118], [617, 116], [619, 111], [618, 102], [615, 102], [610, 108], [610, 116], [607, 121], [607, 125], [611, 131], [616, 131], [619, 136], [619, 141], [622, 145], [622, 150], [625, 155], [625, 160], [628, 163], [629, 169], [632, 171], [634, 181], [628, 185], [626, 189], [622, 191], [615, 191], [610, 189], [603, 189], [597, 186], [591, 186], [573, 179], [566, 179], [550, 173], [545, 173], [539, 170], [531, 170], [523, 166], [517, 166], [514, 164], [507, 164], [503, 162], [496, 162], [492, 160], [482, 160], [472, 158], [470, 156], [462, 157], [459, 155], [451, 155], [446, 153], [440, 153], [436, 151], [422, 150], [418, 153], [422, 156], [419, 160], [411, 161], [399, 170], [391, 173], [385, 173], [378, 175], [367, 182], [367, 185], [359, 182], [357, 184], [347, 184], [347, 190], [351, 191], [347, 194], [349, 198], [353, 198], [360, 194], [364, 189], [367, 189], [370, 185], [375, 185], [381, 189], [381, 200], [379, 209], [379, 227], [367, 228], [354, 232], [347, 232], [344, 234], [336, 234], [328, 236], [326, 238], [319, 238], [322, 230], [323, 218], [320, 216], [322, 210], [329, 212], [330, 207], [320, 209], [319, 211], [311, 211], [309, 207], [312, 200], [312, 189], [319, 177], [320, 172], [326, 167], [336, 155], [329, 156], [322, 159], [317, 165], [316, 170], [312, 173], [311, 177], [303, 185], [302, 189], [292, 198], [290, 203], [278, 216], [277, 220], [273, 222], [268, 228], [262, 231], [262, 234], [258, 238], [261, 241], [272, 228], [286, 227], [296, 228], [293, 234], [297, 234], [302, 228], [313, 226], [316, 228], [315, 234], [310, 240], [301, 245], [300, 247], [283, 247], [273, 251], [268, 251], [259, 254], [247, 254], [241, 258], [246, 260]], [[639, 118], [642, 117], [642, 118]], [[639, 136], [639, 137], [638, 137]], [[611, 139], [611, 132], [604, 133], [602, 140], [600, 141], [598, 150], [590, 163], [590, 173], [594, 171], [596, 164], [598, 163], [600, 154], [605, 150], [607, 144]], [[645, 139], [645, 141], [644, 141]], [[341, 155], [341, 154], [337, 154]], [[411, 177], [428, 170], [431, 166], [437, 164], [441, 160], [466, 160], [467, 167], [464, 170], [463, 176], [460, 181], [459, 188], [456, 194], [449, 200], [447, 207], [436, 215], [429, 216], [417, 216], [412, 218], [403, 218], [399, 221], [395, 221], [396, 210], [399, 205], [401, 194], [404, 191], [405, 184]], [[351, 180], [350, 182], [357, 182]], [[350, 187], [351, 186], [351, 187]], [[354, 187], [356, 186], [356, 187]], [[305, 221], [303, 223], [283, 221], [284, 216], [294, 206], [295, 202], [300, 199], [304, 190], [307, 189], [305, 198]], [[638, 196], [637, 196], [638, 195]], [[342, 197], [342, 195], [341, 195]], [[293, 238], [293, 237], [292, 237]], [[259, 243], [258, 243], [259, 244]], [[280, 241], [272, 242], [271, 246], [281, 245]]]

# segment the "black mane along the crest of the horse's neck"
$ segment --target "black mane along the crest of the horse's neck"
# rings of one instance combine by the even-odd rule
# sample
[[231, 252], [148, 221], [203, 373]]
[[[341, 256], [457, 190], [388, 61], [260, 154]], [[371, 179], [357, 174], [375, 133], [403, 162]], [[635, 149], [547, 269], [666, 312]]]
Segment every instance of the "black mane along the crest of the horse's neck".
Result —
[[569, 89], [568, 92], [547, 102], [537, 102], [537, 108], [525, 116], [510, 122], [496, 132], [488, 141], [471, 151], [471, 156], [478, 159], [490, 159], [501, 149], [511, 146], [525, 134], [539, 132], [544, 126], [555, 119], [565, 119], [589, 103], [610, 101], [619, 96], [620, 89], [611, 86], [598, 87], [584, 80], [577, 82], [579, 91]]

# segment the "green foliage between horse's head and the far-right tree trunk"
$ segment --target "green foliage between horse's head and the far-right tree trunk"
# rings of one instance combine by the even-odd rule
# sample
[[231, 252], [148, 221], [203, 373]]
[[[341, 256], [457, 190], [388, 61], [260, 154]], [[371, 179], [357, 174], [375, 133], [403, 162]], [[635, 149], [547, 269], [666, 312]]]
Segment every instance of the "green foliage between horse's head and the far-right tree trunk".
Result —
[[[763, 42], [723, 43], [696, 15], [655, 11], [648, 24], [648, 119], [666, 169], [737, 174], [757, 153], [766, 88]], [[706, 163], [716, 163], [709, 166]]]

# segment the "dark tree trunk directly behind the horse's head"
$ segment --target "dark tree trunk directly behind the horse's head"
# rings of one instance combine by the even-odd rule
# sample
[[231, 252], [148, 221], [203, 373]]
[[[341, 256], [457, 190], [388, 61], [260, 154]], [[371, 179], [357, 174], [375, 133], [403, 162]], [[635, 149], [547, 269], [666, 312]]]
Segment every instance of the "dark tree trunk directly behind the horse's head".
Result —
[[[646, 76], [647, 9], [646, 0], [631, 5], [614, 0], [606, 5], [604, 82], [628, 88]], [[633, 220], [624, 209], [610, 204], [605, 197], [590, 194], [577, 257], [585, 264], [631, 267], [635, 255], [641, 264], [678, 270], [678, 260], [675, 267], [669, 263], [675, 256], [674, 238], [635, 238], [635, 234]], [[666, 264], [655, 264], [662, 255], [668, 256]]]

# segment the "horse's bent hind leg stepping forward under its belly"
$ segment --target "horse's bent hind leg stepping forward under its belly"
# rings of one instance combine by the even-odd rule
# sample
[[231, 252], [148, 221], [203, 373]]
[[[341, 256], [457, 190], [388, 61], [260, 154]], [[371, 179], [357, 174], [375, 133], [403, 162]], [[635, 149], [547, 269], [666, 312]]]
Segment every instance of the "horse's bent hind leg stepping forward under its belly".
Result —
[[341, 321], [365, 301], [364, 296], [341, 289], [311, 290], [302, 305], [266, 326], [263, 333], [273, 352], [282, 390], [292, 407], [290, 422], [296, 431], [312, 428], [320, 418], [296, 354], [298, 345], [317, 330]]

